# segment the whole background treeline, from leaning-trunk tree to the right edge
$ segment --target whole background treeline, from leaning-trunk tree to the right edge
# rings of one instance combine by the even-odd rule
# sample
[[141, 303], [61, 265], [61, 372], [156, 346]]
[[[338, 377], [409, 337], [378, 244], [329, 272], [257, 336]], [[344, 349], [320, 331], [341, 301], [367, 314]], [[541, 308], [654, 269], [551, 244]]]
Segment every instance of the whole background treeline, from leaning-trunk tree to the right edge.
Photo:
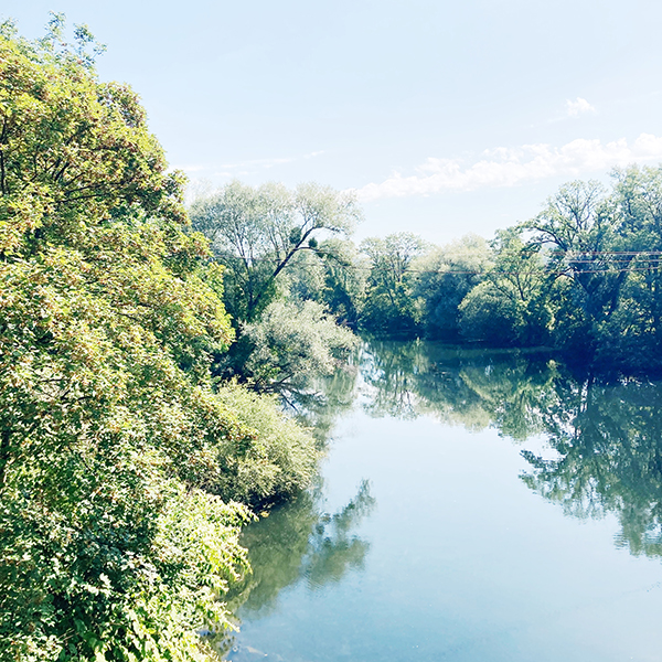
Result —
[[662, 168], [615, 171], [609, 190], [566, 184], [491, 242], [435, 246], [397, 233], [355, 245], [352, 197], [311, 185], [233, 182], [200, 196], [191, 216], [227, 267], [239, 334], [257, 337], [275, 300], [290, 307], [284, 320], [314, 302], [377, 338], [548, 346], [594, 370], [662, 369]]

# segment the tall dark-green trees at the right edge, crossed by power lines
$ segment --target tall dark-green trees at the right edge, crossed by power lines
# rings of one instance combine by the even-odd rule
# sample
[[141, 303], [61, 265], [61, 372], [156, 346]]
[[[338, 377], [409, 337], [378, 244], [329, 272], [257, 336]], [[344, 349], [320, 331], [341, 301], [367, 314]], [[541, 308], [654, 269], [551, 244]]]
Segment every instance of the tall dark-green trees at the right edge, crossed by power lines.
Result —
[[[546, 250], [553, 337], [574, 363], [659, 370], [662, 177], [637, 167], [563, 186], [523, 225]], [[644, 356], [650, 356], [643, 359]]]

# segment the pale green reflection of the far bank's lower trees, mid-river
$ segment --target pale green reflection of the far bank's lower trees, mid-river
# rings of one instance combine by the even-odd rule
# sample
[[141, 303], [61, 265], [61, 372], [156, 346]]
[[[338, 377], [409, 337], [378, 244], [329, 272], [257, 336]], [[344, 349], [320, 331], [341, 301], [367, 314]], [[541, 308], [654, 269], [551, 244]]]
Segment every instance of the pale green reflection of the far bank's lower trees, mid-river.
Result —
[[362, 376], [372, 416], [431, 414], [479, 430], [525, 439], [540, 431], [545, 386], [555, 374], [543, 354], [467, 351], [434, 343], [371, 342]]

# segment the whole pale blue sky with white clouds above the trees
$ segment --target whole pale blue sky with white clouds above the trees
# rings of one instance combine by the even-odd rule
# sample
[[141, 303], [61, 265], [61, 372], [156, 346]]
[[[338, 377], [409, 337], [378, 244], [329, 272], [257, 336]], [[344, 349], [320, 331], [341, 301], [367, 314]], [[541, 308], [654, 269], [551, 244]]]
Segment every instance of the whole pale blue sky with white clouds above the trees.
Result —
[[195, 180], [357, 191], [359, 236], [444, 243], [535, 215], [564, 181], [662, 162], [662, 3], [3, 0], [87, 23]]

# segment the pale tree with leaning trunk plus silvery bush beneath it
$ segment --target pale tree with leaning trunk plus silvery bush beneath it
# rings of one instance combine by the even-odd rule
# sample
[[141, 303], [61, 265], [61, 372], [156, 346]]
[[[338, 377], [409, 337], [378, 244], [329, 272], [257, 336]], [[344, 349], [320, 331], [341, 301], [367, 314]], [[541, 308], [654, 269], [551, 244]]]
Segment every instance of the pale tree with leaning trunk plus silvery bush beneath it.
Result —
[[[191, 218], [227, 269], [223, 297], [238, 335], [229, 353], [216, 353], [214, 373], [287, 396], [333, 372], [354, 340], [316, 301], [329, 289], [324, 266], [349, 264], [338, 236], [361, 218], [354, 196], [317, 184], [290, 191], [235, 181], [199, 196]], [[348, 305], [344, 317], [354, 314], [351, 296], [340, 284], [334, 289], [339, 307]]]

